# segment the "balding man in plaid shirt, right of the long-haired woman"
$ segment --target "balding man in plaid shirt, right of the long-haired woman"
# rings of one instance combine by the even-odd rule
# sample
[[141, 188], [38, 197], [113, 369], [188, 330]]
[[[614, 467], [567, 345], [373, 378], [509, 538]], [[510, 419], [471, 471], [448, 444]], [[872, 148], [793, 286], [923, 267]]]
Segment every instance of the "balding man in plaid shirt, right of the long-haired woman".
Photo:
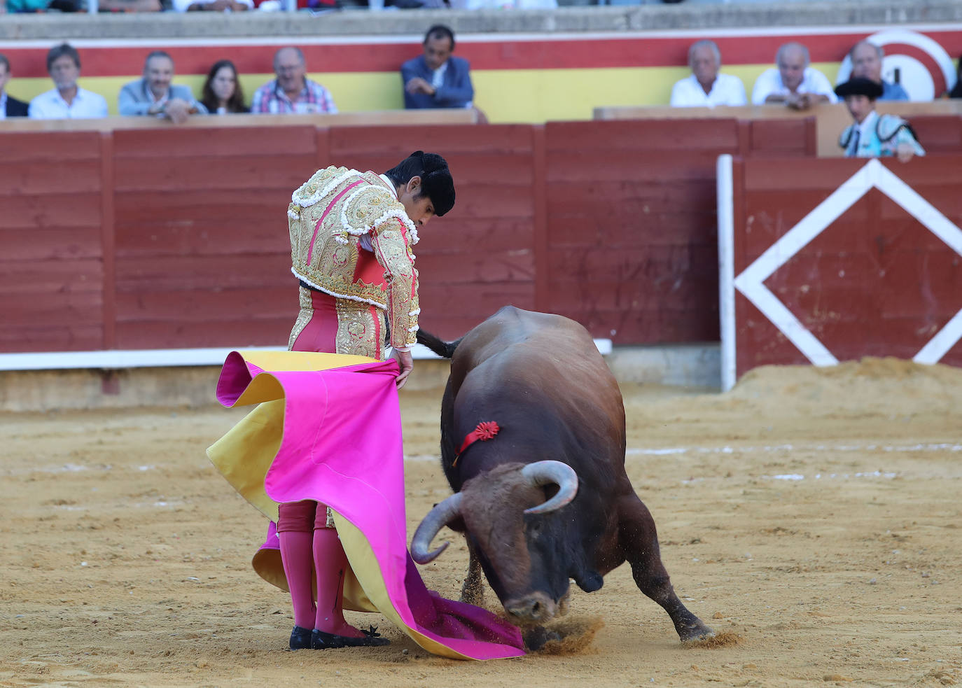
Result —
[[254, 91], [250, 112], [265, 115], [337, 113], [331, 91], [307, 78], [307, 63], [300, 48], [290, 46], [274, 53], [277, 77]]

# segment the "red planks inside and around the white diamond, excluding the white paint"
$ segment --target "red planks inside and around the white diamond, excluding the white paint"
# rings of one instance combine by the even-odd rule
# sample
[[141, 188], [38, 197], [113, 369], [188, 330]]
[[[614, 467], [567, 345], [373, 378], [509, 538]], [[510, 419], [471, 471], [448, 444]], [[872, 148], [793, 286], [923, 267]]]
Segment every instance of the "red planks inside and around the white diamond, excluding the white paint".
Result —
[[[735, 275], [866, 163], [805, 161], [779, 171], [775, 161], [745, 161], [744, 177], [736, 175], [736, 197], [745, 210], [735, 227]], [[957, 158], [930, 156], [907, 165], [889, 160], [885, 166], [938, 214], [962, 225]], [[796, 191], [788, 189], [792, 182]], [[901, 205], [910, 203], [909, 195], [893, 190], [896, 199], [876, 188], [865, 192], [765, 281], [802, 326], [842, 361], [911, 359], [962, 310], [962, 256], [909, 215]], [[942, 222], [922, 207], [916, 212]], [[947, 227], [949, 241], [962, 243], [958, 229], [939, 226]], [[736, 292], [735, 306], [739, 374], [759, 365], [808, 361], [744, 294]], [[962, 365], [962, 346], [951, 345], [941, 362]]]

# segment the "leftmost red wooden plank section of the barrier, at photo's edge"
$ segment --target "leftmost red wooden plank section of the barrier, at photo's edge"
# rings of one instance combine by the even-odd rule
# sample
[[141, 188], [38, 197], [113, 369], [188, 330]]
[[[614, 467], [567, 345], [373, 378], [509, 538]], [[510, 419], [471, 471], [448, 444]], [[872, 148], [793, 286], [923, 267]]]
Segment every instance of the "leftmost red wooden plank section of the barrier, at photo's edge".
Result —
[[99, 139], [0, 134], [0, 351], [104, 345]]

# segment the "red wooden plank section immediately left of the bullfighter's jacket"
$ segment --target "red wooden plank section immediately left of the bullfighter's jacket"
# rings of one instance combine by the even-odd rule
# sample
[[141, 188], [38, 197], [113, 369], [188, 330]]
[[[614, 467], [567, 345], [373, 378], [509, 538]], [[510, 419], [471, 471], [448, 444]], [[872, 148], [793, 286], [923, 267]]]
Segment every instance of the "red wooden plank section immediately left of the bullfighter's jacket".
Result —
[[297, 314], [287, 206], [316, 129], [114, 133], [116, 345], [283, 345]]

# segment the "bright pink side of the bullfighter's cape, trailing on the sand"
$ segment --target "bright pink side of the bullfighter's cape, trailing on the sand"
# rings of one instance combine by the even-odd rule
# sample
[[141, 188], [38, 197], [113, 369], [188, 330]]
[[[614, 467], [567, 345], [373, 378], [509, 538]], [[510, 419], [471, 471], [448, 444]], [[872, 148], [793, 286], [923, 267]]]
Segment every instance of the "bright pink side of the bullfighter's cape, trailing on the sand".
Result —
[[221, 370], [217, 400], [232, 406], [257, 375], [276, 379], [286, 399], [284, 433], [266, 473], [267, 496], [277, 502], [315, 499], [357, 527], [377, 559], [392, 606], [411, 628], [474, 659], [521, 656], [516, 626], [428, 591], [408, 553], [397, 370], [388, 360], [269, 372], [235, 351]]

